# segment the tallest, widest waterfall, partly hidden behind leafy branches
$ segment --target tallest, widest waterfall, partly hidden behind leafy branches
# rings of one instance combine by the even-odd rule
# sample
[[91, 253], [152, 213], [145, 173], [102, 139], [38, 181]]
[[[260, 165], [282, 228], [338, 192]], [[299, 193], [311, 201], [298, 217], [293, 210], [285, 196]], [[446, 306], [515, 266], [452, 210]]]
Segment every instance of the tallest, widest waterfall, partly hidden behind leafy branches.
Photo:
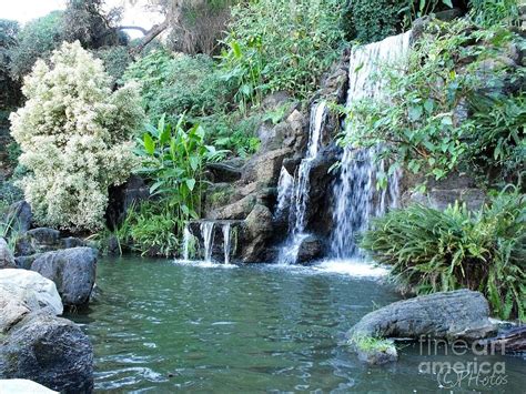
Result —
[[[378, 67], [407, 58], [409, 46], [411, 31], [354, 49], [350, 59], [347, 107], [364, 98], [385, 98], [384, 81], [375, 78]], [[347, 133], [352, 132], [347, 130]], [[382, 215], [388, 206], [397, 204], [398, 173], [388, 178], [387, 190], [376, 191], [375, 174], [385, 165], [374, 162], [376, 149], [344, 149], [340, 181], [333, 190], [335, 230], [331, 250], [334, 257], [361, 257], [356, 235], [367, 229], [371, 216]]]

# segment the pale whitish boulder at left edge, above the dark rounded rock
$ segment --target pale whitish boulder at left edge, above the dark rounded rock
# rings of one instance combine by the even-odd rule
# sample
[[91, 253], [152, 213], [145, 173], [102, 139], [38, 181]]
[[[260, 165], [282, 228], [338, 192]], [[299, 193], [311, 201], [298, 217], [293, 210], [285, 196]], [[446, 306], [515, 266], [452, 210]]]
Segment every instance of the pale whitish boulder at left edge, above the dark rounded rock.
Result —
[[53, 282], [37, 272], [12, 269], [0, 271], [0, 333], [30, 312], [47, 310], [55, 315], [63, 312]]

